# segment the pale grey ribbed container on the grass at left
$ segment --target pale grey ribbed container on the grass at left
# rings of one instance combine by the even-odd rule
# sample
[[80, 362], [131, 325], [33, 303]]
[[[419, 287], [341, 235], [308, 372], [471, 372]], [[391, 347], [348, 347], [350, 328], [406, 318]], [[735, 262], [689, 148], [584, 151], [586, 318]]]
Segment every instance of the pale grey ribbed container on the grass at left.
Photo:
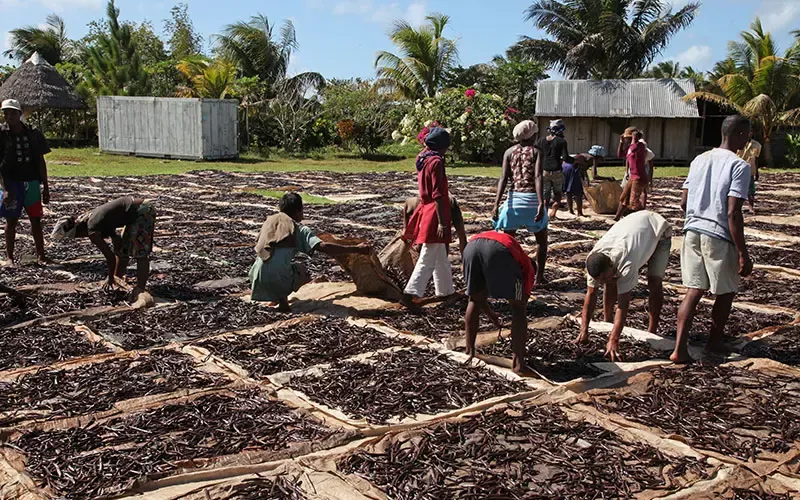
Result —
[[106, 153], [189, 160], [239, 154], [235, 99], [101, 96], [97, 125]]

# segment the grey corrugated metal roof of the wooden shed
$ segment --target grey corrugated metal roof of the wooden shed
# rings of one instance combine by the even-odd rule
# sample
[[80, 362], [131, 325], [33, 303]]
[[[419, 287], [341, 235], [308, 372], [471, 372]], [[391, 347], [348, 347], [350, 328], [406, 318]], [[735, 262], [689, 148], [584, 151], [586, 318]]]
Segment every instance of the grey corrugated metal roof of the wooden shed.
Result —
[[544, 80], [536, 115], [600, 118], [699, 118], [697, 104], [681, 98], [694, 92], [686, 79]]

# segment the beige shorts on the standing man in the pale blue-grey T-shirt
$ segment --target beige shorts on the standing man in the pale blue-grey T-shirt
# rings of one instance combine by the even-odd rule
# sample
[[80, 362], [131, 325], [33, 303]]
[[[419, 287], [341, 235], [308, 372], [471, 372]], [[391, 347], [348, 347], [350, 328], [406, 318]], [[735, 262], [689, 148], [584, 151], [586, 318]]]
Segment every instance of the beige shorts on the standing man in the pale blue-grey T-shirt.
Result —
[[730, 241], [686, 231], [681, 247], [683, 285], [714, 295], [739, 291], [739, 253]]

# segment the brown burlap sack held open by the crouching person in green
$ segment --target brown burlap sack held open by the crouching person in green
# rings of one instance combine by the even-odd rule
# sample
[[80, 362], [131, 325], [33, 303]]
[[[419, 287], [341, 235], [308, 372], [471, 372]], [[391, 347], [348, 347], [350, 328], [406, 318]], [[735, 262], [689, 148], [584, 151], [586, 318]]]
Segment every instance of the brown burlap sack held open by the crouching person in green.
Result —
[[[358, 238], [340, 239], [331, 234], [321, 234], [319, 238], [326, 243], [337, 243], [339, 245], [367, 243], [366, 240]], [[336, 257], [336, 262], [353, 278], [356, 289], [360, 294], [390, 301], [399, 301], [403, 297], [403, 291], [386, 275], [383, 266], [381, 266], [381, 261], [378, 260], [378, 256], [374, 251], [370, 252], [369, 255], [340, 255]]]

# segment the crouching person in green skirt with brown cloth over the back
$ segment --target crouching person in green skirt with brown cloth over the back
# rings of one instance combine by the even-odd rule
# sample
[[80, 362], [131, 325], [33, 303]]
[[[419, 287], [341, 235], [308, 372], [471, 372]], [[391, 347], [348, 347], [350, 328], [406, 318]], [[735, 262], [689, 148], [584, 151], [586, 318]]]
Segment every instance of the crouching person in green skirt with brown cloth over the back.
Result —
[[270, 302], [281, 311], [291, 311], [289, 295], [311, 281], [306, 267], [294, 258], [298, 253], [313, 255], [320, 251], [336, 257], [348, 253], [368, 254], [369, 244], [339, 245], [320, 240], [303, 221], [303, 199], [297, 193], [286, 193], [279, 204], [280, 212], [267, 217], [261, 226], [255, 246], [256, 261], [250, 268], [251, 299]]

